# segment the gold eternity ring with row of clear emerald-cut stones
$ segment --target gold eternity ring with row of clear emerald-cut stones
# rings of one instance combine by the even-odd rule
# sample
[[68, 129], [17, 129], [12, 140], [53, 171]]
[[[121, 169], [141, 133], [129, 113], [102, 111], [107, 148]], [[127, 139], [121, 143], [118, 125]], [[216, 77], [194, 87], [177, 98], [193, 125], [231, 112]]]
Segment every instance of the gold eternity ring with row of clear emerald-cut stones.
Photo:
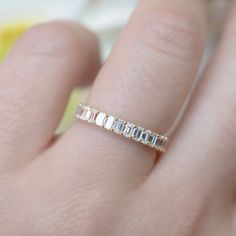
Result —
[[97, 125], [161, 152], [166, 151], [169, 142], [169, 139], [163, 135], [144, 129], [131, 122], [115, 118], [112, 115], [107, 115], [84, 104], [78, 105], [75, 117], [77, 120]]

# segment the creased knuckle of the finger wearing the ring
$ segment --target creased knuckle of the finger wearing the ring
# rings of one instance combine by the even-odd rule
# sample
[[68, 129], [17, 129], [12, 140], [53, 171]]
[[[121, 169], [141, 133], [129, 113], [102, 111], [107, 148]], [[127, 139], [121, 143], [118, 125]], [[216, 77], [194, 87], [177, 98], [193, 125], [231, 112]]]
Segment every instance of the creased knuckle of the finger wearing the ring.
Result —
[[151, 10], [139, 13], [136, 24], [141, 40], [151, 50], [184, 60], [197, 57], [201, 52], [201, 34], [192, 17], [171, 10]]

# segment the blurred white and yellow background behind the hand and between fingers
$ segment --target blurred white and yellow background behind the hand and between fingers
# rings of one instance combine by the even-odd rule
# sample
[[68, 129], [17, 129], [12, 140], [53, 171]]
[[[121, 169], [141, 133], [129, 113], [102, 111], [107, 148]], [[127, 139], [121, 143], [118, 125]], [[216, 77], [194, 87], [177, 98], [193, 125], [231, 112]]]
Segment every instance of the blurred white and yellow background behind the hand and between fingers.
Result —
[[[198, 1], [198, 0], [196, 0]], [[221, 35], [227, 9], [233, 0], [206, 0], [209, 5], [208, 60]], [[96, 32], [102, 58], [105, 60], [138, 0], [2, 0], [0, 1], [0, 60], [9, 52], [20, 35], [39, 22], [68, 19], [79, 21]], [[76, 89], [71, 95], [59, 132], [74, 121], [78, 102], [85, 99], [88, 89]]]

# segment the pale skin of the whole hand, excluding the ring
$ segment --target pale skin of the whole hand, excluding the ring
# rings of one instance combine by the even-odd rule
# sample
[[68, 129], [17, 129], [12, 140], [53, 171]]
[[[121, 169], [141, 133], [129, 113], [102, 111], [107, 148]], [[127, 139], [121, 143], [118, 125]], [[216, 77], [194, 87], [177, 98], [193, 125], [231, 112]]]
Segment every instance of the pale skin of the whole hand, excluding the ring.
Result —
[[202, 58], [204, 1], [142, 0], [101, 68], [78, 24], [25, 33], [0, 65], [0, 235], [236, 235], [235, 13], [163, 155], [83, 122], [55, 130], [95, 80], [87, 104], [165, 133]]

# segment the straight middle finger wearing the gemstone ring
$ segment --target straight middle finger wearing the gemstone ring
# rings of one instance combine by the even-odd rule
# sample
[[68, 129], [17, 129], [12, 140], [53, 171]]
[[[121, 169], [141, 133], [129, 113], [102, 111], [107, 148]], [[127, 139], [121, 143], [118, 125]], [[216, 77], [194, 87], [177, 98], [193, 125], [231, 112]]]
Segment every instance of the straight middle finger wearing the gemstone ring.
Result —
[[[98, 75], [88, 104], [147, 129], [167, 131], [195, 77], [204, 36], [203, 1], [141, 1]], [[73, 148], [79, 136], [79, 148]], [[135, 180], [150, 171], [156, 156], [151, 149], [80, 122], [59, 144], [70, 147], [70, 155], [80, 156], [81, 162], [86, 156], [95, 169], [105, 163], [104, 170], [113, 170], [110, 174]]]

